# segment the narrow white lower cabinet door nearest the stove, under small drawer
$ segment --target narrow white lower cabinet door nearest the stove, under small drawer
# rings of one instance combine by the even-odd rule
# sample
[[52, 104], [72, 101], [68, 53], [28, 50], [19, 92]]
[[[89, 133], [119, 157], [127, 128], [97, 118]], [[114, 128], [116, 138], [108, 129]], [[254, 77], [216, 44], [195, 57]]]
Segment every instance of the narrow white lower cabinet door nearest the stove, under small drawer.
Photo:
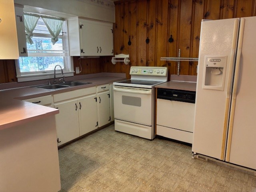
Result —
[[110, 118], [110, 93], [102, 92], [98, 94], [98, 112], [99, 112], [99, 127], [108, 124]]

